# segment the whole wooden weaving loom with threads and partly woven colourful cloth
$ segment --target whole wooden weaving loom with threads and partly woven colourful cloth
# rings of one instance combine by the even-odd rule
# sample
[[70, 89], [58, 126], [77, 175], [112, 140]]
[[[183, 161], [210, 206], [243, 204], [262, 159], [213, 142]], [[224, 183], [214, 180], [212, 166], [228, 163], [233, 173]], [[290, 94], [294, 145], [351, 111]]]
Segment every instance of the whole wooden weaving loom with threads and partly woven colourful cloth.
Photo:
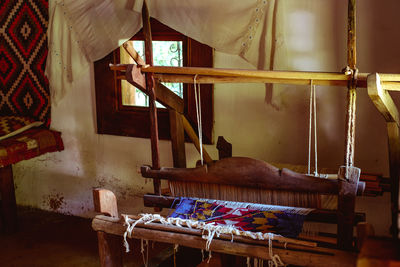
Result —
[[[354, 242], [353, 228], [357, 223], [365, 221], [362, 214], [354, 211], [355, 197], [361, 195], [365, 187], [363, 182], [359, 182], [360, 169], [353, 166], [355, 89], [367, 85], [369, 95], [378, 109], [386, 114], [387, 121], [393, 120], [398, 125], [398, 113], [394, 115], [397, 109], [393, 101], [384, 100], [383, 97], [388, 96], [379, 92], [388, 89], [385, 82], [396, 86], [394, 83], [399, 79], [398, 75], [358, 73], [355, 66], [355, 1], [349, 1], [349, 66], [345, 73], [154, 67], [149, 14], [145, 4], [142, 13], [146, 62], [149, 65], [144, 63], [133, 47], [124, 46], [137, 64], [113, 65], [111, 69], [125, 72], [126, 80], [150, 97], [152, 166], [143, 166], [141, 172], [143, 177], [153, 178], [155, 194], [144, 196], [145, 206], [175, 210], [168, 218], [158, 214], [124, 215], [120, 218], [115, 195], [104, 189], [94, 190], [96, 211], [108, 215], [96, 216], [92, 224], [98, 233], [102, 266], [122, 266], [122, 236], [270, 260], [276, 266], [283, 263], [354, 266], [355, 247], [360, 245], [363, 236], [359, 237], [359, 243]], [[287, 84], [311, 82], [319, 85], [348, 86], [345, 166], [339, 168], [337, 179], [322, 179], [285, 168], [278, 169], [251, 158], [226, 157], [213, 161], [202, 150], [201, 138], [196, 136], [184, 115], [177, 111], [176, 107], [183, 104], [160, 83], [167, 81]], [[186, 162], [179, 162], [178, 159], [178, 155], [184, 153], [184, 130], [199, 152], [204, 152], [205, 165], [196, 168], [160, 167], [156, 100], [170, 109], [170, 117], [175, 118], [171, 120], [171, 136], [176, 167], [186, 166]], [[229, 155], [229, 152], [227, 154]], [[161, 195], [160, 179], [168, 180], [172, 196]], [[275, 197], [279, 194], [286, 199], [285, 206], [307, 207], [311, 203], [316, 204], [311, 204], [313, 209], [302, 210], [247, 203], [282, 205], [278, 203], [282, 198]], [[320, 209], [318, 203], [321, 194], [337, 196], [337, 210]], [[228, 202], [229, 200], [235, 202]], [[232, 217], [232, 214], [238, 216]], [[260, 218], [266, 220], [263, 223], [255, 223]], [[332, 244], [330, 247], [324, 247], [323, 244], [315, 243], [318, 238], [312, 241], [297, 239], [303, 221], [337, 224], [334, 248]], [[221, 224], [225, 227], [218, 228]], [[231, 227], [232, 225], [240, 227]], [[367, 234], [367, 228], [366, 224], [359, 224], [357, 232]]]

